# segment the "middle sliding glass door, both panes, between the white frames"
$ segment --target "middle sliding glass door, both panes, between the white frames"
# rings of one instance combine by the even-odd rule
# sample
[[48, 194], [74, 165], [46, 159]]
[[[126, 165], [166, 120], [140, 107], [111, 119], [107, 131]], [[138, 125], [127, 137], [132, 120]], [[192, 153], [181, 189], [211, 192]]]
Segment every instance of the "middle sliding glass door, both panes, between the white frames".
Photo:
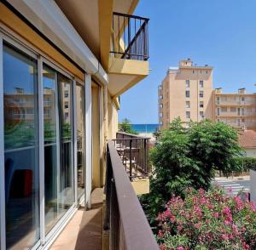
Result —
[[47, 65], [44, 85], [45, 231], [74, 204], [73, 81]]

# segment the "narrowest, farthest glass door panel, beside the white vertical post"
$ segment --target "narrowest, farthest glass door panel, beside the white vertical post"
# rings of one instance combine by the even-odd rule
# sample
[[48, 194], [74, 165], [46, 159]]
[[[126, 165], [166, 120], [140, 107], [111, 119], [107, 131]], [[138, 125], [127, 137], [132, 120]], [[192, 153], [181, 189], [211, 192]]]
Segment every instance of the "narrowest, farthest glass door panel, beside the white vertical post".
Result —
[[84, 171], [85, 171], [85, 158], [84, 158], [84, 87], [77, 83], [76, 85], [76, 104], [77, 104], [77, 142], [78, 142], [78, 199], [84, 193]]

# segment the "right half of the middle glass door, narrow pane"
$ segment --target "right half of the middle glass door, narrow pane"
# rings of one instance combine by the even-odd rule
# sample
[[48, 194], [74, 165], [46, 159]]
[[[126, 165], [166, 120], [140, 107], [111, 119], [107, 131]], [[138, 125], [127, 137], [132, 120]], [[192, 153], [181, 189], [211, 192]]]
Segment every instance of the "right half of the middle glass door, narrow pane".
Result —
[[60, 213], [66, 213], [74, 203], [73, 181], [73, 98], [72, 80], [58, 74], [60, 116]]

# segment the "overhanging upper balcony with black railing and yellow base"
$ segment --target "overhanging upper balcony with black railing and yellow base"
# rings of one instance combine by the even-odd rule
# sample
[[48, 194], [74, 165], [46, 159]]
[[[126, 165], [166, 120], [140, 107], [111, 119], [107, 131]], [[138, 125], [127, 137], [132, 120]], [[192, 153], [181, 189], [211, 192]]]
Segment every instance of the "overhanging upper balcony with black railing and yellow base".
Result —
[[108, 89], [123, 94], [148, 76], [148, 18], [113, 12]]

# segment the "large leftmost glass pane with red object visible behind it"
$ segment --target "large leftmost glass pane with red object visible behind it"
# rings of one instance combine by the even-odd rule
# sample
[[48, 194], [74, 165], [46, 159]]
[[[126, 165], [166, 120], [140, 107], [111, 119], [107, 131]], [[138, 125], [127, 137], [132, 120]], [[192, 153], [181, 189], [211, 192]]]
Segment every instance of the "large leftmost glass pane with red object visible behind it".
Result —
[[12, 249], [39, 239], [37, 77], [36, 60], [3, 46], [6, 241]]

